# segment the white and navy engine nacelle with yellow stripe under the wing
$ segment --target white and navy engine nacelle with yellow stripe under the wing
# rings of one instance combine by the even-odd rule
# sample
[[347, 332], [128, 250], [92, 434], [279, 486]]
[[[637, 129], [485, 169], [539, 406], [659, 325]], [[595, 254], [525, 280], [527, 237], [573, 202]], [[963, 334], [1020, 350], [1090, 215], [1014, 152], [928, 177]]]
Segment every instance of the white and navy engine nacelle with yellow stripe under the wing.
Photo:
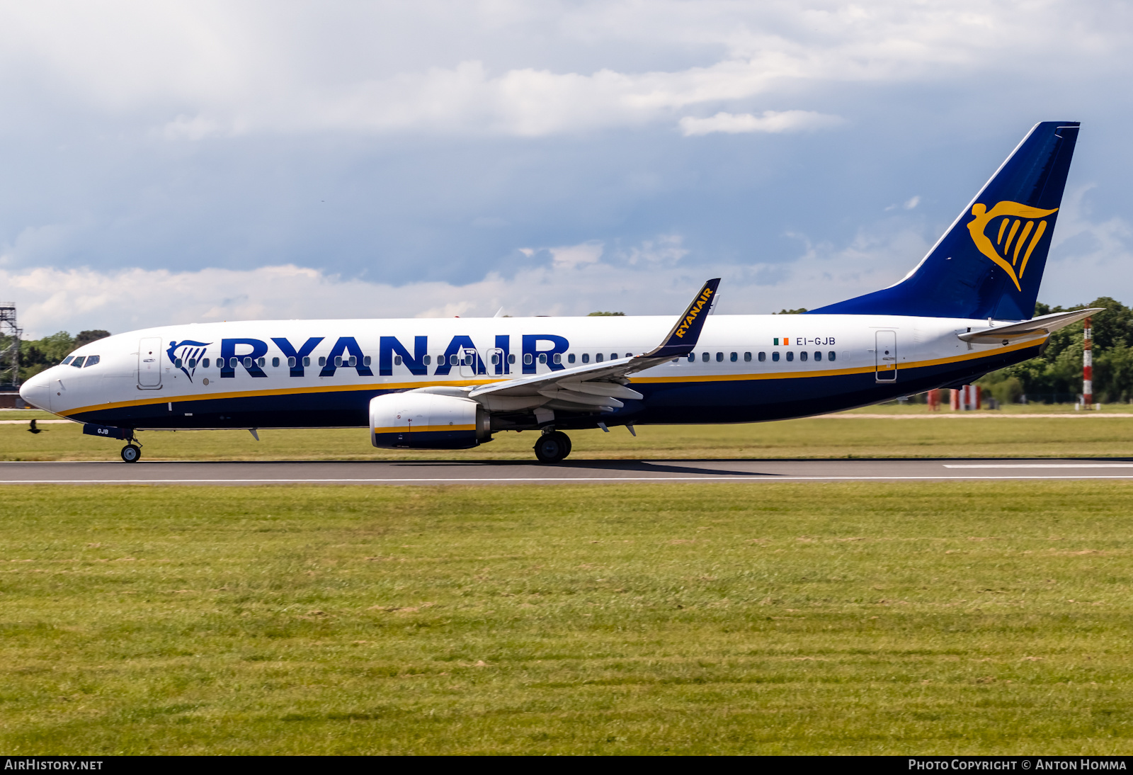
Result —
[[410, 391], [370, 399], [369, 440], [385, 449], [467, 450], [492, 441], [492, 433], [476, 401]]

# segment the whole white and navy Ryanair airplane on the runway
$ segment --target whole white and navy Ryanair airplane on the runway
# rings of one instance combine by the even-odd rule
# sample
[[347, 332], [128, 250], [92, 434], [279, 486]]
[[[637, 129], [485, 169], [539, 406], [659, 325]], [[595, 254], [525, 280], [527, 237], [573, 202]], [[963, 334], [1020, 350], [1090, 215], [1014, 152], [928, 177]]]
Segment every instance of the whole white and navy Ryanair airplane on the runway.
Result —
[[1099, 309], [1032, 317], [1079, 122], [1037, 124], [902, 280], [798, 315], [248, 321], [83, 346], [24, 400], [126, 441], [146, 429], [367, 427], [374, 446], [463, 450], [529, 431], [808, 417], [966, 384]]

